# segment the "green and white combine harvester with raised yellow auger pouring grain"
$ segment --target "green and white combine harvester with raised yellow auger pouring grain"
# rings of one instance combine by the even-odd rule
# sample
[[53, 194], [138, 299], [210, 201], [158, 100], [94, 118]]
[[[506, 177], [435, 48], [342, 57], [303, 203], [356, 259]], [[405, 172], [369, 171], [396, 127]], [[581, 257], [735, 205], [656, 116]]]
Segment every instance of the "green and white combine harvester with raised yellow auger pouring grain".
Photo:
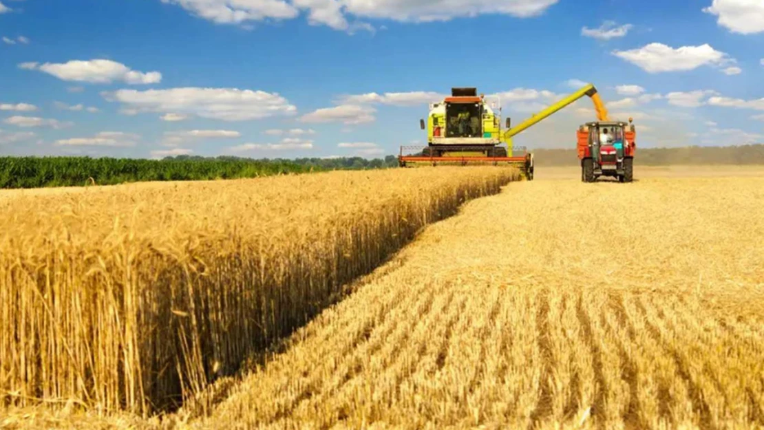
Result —
[[[533, 179], [533, 154], [525, 147], [515, 147], [512, 138], [588, 95], [597, 118], [607, 119], [607, 111], [594, 85], [587, 85], [555, 102], [525, 121], [511, 127], [507, 118], [501, 128], [501, 99], [498, 95], [478, 95], [475, 88], [452, 88], [451, 97], [429, 105], [427, 121], [419, 120], [427, 130], [426, 147], [400, 147], [400, 167], [439, 165], [494, 165], [517, 167], [526, 179]], [[498, 109], [498, 112], [496, 112]], [[506, 145], [506, 146], [504, 146]]]

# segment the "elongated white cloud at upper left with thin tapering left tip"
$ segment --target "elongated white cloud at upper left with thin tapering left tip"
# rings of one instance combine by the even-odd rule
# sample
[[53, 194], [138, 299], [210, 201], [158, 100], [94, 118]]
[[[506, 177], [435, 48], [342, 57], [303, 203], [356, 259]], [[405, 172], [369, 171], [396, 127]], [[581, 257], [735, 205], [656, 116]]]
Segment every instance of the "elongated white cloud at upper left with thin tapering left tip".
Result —
[[56, 76], [58, 79], [73, 82], [112, 83], [126, 82], [128, 84], [159, 83], [162, 74], [159, 72], [138, 72], [131, 70], [125, 64], [112, 60], [71, 60], [66, 63], [21, 63], [21, 69], [40, 70]]

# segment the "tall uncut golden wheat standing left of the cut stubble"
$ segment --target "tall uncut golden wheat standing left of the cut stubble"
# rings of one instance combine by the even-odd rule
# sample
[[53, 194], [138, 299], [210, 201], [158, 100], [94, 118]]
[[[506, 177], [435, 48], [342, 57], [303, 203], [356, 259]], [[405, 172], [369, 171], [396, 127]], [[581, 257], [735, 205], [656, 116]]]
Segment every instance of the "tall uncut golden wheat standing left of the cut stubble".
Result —
[[513, 179], [444, 168], [5, 196], [0, 406], [146, 414], [199, 393]]

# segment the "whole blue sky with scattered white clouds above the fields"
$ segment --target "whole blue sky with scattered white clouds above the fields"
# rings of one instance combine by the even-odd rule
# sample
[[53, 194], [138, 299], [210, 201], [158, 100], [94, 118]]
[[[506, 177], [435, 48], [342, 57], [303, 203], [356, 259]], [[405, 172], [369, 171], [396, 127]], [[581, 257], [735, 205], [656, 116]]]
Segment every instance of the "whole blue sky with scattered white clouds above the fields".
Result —
[[0, 0], [0, 37], [0, 155], [378, 157], [452, 86], [519, 121], [578, 81], [640, 147], [764, 142], [756, 0]]

